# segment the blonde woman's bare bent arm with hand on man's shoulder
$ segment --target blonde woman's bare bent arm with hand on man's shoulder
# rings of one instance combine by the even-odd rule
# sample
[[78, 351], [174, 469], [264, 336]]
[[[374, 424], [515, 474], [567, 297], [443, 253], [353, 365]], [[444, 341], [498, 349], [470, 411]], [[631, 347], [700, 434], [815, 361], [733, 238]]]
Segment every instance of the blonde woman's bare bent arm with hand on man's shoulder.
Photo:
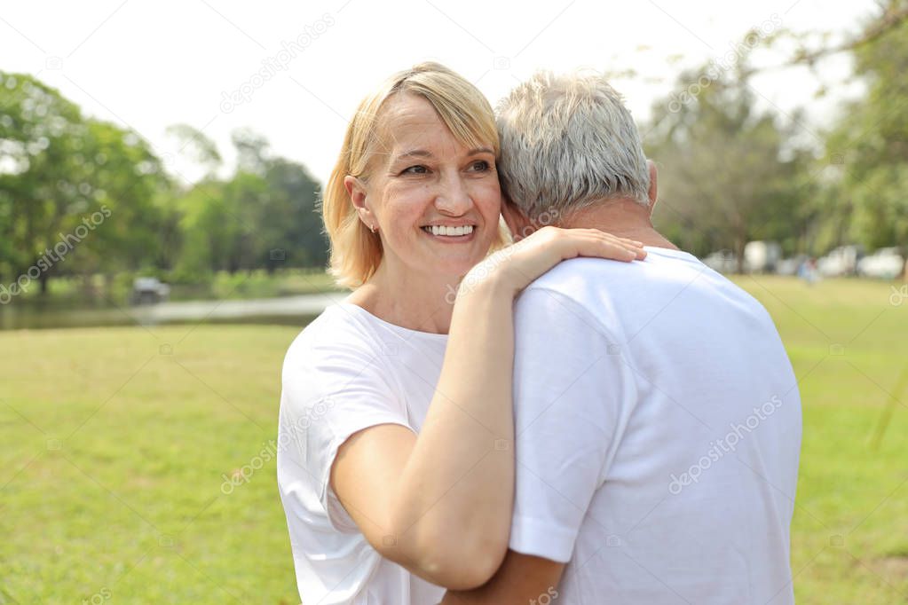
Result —
[[596, 229], [540, 229], [461, 283], [419, 435], [381, 424], [341, 445], [331, 486], [380, 554], [450, 589], [488, 581], [508, 550], [513, 501], [513, 301], [562, 259], [643, 258]]

